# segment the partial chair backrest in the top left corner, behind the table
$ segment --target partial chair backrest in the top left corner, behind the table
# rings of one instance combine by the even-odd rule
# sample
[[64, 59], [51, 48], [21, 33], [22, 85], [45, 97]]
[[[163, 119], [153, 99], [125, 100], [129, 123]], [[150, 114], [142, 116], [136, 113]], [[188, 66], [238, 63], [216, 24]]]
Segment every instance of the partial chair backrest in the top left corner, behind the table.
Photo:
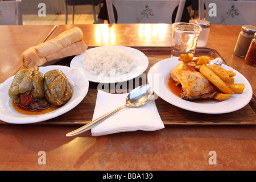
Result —
[[22, 1], [0, 2], [0, 24], [22, 24]]

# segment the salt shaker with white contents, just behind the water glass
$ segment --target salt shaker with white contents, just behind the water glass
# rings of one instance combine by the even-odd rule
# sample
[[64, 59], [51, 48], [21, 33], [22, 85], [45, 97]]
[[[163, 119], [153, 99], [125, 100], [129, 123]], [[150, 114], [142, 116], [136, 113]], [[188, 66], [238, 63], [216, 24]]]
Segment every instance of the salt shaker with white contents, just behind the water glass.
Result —
[[196, 24], [199, 24], [202, 28], [202, 31], [199, 34], [199, 38], [197, 40], [197, 47], [206, 47], [209, 33], [210, 33], [210, 22], [207, 20], [196, 20]]

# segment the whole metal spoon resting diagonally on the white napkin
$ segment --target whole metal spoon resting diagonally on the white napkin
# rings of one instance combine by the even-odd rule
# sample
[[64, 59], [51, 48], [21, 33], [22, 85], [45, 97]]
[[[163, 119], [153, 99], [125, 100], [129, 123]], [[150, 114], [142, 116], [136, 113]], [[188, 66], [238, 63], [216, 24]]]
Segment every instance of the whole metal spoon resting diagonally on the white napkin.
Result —
[[150, 100], [153, 93], [154, 93], [154, 91], [152, 90], [150, 85], [138, 86], [137, 88], [131, 90], [131, 92], [126, 97], [126, 105], [120, 106], [117, 109], [115, 109], [113, 111], [110, 111], [109, 113], [107, 113], [105, 115], [102, 115], [102, 117], [86, 124], [85, 126], [80, 127], [77, 130], [74, 130], [74, 131], [68, 133], [66, 136], [67, 137], [73, 137], [75, 135], [84, 133], [85, 131], [88, 131], [88, 130], [92, 129], [94, 126], [96, 126], [99, 123], [101, 123], [102, 121], [104, 121], [110, 115], [114, 114], [118, 110], [121, 110], [125, 107], [139, 107], [139, 106], [142, 106]]

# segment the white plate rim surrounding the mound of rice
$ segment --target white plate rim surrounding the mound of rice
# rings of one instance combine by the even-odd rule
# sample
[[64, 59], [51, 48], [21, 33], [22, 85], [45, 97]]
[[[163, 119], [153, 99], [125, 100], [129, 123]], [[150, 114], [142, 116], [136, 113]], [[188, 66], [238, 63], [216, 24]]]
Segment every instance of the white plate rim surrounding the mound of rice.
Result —
[[[121, 75], [121, 76], [117, 76], [117, 77], [92, 75], [91, 73], [89, 73], [88, 71], [86, 71], [82, 67], [82, 63], [80, 61], [80, 59], [82, 59], [82, 57], [84, 57], [84, 55], [86, 54], [86, 51], [85, 51], [85, 52], [81, 53], [80, 55], [75, 56], [72, 59], [72, 61], [70, 63], [70, 67], [73, 68], [73, 69], [80, 69], [81, 71], [83, 71], [89, 81], [104, 83], [104, 84], [105, 83], [111, 84], [111, 83], [131, 80], [131, 79], [141, 75], [147, 69], [148, 59], [147, 59], [147, 56], [144, 55], [143, 52], [138, 51], [137, 49], [134, 49], [134, 48], [131, 48], [131, 47], [124, 47], [124, 46], [113, 46], [113, 47], [120, 48], [123, 51], [126, 51], [126, 52], [130, 53], [134, 57], [137, 57], [138, 58], [137, 66], [134, 67], [133, 69], [131, 69], [131, 71], [129, 73], [126, 73], [125, 75]], [[95, 47], [95, 48], [92, 48], [92, 49], [97, 49], [97, 48], [98, 47]]]

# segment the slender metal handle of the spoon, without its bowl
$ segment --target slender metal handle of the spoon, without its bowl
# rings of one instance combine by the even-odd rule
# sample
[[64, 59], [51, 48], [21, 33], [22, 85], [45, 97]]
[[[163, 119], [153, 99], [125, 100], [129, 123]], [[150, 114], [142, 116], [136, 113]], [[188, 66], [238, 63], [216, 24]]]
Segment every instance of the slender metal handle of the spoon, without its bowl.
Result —
[[80, 127], [79, 129], [76, 129], [74, 131], [71, 131], [70, 133], [66, 134], [67, 137], [73, 137], [75, 135], [84, 133], [85, 131], [88, 131], [95, 127], [96, 125], [100, 124], [102, 121], [104, 121], [106, 118], [110, 117], [110, 115], [116, 113], [118, 110], [121, 110], [123, 108], [127, 107], [126, 105], [120, 106], [115, 110], [110, 111], [109, 113], [106, 113], [105, 115], [102, 115], [100, 118], [95, 119], [92, 122], [89, 122], [88, 124]]

